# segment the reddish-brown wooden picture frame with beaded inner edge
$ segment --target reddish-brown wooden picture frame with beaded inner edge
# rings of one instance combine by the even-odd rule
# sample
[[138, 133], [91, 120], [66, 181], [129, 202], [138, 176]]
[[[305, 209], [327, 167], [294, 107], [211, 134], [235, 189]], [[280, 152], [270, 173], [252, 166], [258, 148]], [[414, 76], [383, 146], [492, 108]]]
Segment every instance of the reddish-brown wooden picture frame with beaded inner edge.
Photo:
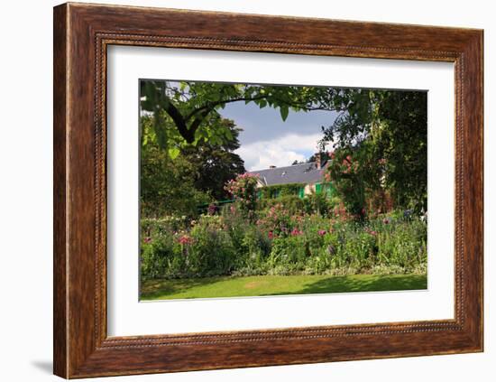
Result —
[[[99, 377], [482, 351], [482, 38], [480, 30], [460, 28], [56, 6], [54, 373]], [[111, 44], [454, 62], [455, 319], [107, 337]]]

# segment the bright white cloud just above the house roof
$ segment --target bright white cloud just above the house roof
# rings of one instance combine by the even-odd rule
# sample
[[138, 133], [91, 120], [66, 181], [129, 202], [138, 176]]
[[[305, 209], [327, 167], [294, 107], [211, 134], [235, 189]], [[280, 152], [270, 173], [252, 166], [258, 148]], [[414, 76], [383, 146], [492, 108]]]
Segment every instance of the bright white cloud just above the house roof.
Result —
[[274, 165], [289, 166], [295, 160], [304, 161], [317, 152], [322, 134], [284, 135], [271, 141], [258, 141], [242, 145], [235, 151], [244, 161], [247, 171], [262, 170]]

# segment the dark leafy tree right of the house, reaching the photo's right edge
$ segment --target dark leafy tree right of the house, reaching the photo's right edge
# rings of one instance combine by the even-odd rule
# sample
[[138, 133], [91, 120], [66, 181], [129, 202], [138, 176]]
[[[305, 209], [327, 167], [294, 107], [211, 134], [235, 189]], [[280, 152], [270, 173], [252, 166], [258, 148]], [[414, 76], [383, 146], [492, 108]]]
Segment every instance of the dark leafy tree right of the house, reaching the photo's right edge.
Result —
[[[339, 158], [329, 169], [337, 188], [358, 187], [342, 194], [355, 194], [353, 210], [365, 207], [362, 193], [381, 189], [390, 191], [397, 207], [427, 210], [427, 93], [345, 89], [334, 105], [342, 113], [324, 130], [321, 145], [332, 144]], [[357, 166], [354, 181], [341, 171], [348, 155]]]

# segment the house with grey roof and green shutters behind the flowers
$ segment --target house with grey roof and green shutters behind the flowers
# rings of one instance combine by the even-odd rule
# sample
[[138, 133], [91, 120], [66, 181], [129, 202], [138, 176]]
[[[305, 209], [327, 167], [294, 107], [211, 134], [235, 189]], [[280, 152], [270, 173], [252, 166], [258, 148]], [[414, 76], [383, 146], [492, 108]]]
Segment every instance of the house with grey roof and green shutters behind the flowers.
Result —
[[[271, 166], [265, 170], [250, 173], [258, 175], [258, 188], [268, 187], [271, 189], [271, 198], [280, 196], [282, 189], [289, 187], [291, 193], [298, 194], [300, 198], [312, 193], [326, 192], [331, 194], [333, 188], [325, 180], [326, 168], [329, 162], [320, 162], [320, 156], [316, 155], [316, 162], [293, 164], [286, 167]], [[262, 195], [262, 192], [259, 192]]]

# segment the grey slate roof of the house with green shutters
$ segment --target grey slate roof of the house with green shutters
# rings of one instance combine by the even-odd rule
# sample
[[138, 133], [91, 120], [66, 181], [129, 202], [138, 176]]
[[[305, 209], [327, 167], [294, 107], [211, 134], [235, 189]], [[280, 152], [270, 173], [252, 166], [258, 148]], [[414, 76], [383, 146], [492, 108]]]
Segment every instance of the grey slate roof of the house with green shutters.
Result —
[[276, 167], [273, 169], [252, 171], [257, 174], [264, 186], [274, 184], [289, 183], [316, 183], [322, 182], [328, 163], [323, 163], [320, 170], [317, 169], [315, 162], [293, 164], [292, 166]]

